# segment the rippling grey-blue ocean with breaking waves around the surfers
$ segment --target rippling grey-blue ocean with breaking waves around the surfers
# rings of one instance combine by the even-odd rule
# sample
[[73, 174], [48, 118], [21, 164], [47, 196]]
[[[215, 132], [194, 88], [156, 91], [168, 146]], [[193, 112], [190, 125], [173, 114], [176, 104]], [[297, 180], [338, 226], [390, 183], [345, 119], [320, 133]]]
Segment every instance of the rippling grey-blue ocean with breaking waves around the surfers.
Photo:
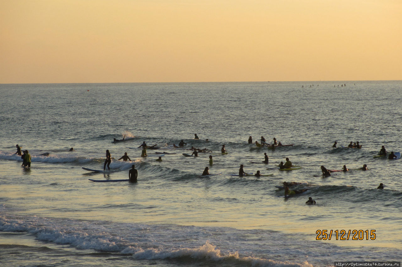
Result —
[[[1, 84], [0, 263], [401, 261], [402, 161], [373, 158], [383, 145], [402, 151], [401, 93], [402, 81]], [[293, 145], [258, 148], [249, 136]], [[140, 157], [143, 141], [159, 147], [148, 155], [174, 154]], [[213, 152], [184, 157], [191, 146]], [[111, 171], [82, 169], [102, 170], [107, 149]], [[118, 160], [125, 152], [132, 162]], [[276, 169], [286, 157], [302, 168]], [[128, 179], [133, 164], [137, 183], [88, 180]], [[240, 164], [273, 175], [230, 176]], [[321, 165], [350, 171], [323, 177]], [[222, 174], [201, 178], [205, 167]], [[284, 181], [308, 190], [285, 198]]]

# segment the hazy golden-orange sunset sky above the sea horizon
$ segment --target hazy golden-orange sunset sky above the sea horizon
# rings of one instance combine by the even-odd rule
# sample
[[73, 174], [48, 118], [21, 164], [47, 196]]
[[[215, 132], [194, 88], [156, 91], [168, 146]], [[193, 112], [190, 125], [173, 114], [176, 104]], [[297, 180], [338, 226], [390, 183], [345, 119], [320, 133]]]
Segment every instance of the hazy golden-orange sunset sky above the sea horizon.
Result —
[[401, 0], [0, 0], [0, 83], [402, 79]]

